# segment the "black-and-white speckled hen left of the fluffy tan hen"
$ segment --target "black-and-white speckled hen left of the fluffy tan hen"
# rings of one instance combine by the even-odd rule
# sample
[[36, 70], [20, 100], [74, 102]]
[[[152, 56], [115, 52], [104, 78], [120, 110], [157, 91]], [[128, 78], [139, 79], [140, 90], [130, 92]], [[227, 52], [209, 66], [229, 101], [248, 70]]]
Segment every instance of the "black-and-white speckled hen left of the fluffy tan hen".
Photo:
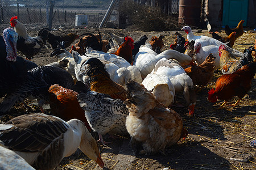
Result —
[[120, 99], [112, 99], [109, 95], [90, 91], [89, 87], [78, 81], [73, 87], [78, 92], [77, 99], [85, 111], [90, 127], [97, 131], [99, 140], [105, 145], [102, 135], [106, 133], [127, 134], [125, 121], [129, 114], [126, 105]]

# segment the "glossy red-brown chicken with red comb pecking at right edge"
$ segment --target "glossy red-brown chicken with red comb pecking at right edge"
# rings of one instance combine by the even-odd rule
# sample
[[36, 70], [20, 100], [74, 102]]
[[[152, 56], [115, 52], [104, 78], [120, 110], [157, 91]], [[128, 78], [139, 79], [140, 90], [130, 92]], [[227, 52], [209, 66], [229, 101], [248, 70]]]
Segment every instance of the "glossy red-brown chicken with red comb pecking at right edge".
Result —
[[256, 62], [249, 63], [242, 66], [239, 70], [232, 74], [224, 74], [217, 79], [215, 90], [210, 90], [208, 100], [212, 103], [217, 99], [225, 100], [221, 107], [234, 96], [238, 96], [239, 99], [233, 104], [236, 107], [239, 101], [245, 96], [245, 94], [251, 88], [251, 80], [256, 73]]

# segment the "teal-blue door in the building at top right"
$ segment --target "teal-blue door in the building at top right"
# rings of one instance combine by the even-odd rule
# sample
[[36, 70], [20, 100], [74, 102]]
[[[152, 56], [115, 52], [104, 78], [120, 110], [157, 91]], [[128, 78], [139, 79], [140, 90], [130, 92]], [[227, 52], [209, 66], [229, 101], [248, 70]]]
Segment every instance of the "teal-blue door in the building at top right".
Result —
[[237, 27], [241, 20], [245, 20], [243, 26], [247, 24], [249, 0], [224, 0], [222, 25]]

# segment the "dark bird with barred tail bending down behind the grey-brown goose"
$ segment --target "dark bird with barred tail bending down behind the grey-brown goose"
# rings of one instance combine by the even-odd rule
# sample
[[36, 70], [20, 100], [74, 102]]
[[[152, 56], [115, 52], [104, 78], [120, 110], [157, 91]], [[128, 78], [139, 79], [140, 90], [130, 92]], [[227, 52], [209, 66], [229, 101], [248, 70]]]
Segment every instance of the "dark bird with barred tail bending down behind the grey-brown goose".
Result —
[[60, 84], [60, 86], [72, 89], [73, 78], [67, 71], [54, 66], [39, 66], [27, 71], [27, 78], [10, 94], [7, 94], [0, 104], [0, 115], [27, 97], [40, 99], [39, 107], [44, 112], [42, 105], [44, 101], [49, 100], [48, 89], [52, 84]]

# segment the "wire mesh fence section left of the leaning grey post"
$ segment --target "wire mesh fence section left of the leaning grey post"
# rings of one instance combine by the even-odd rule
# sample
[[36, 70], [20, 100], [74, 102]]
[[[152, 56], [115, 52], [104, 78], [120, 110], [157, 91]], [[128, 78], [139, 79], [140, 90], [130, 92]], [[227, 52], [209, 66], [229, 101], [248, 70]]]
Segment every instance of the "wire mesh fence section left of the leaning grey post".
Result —
[[[48, 24], [49, 8], [53, 3], [52, 24], [75, 24], [76, 14], [88, 15], [88, 22], [100, 23], [104, 17], [111, 0], [106, 1], [11, 1], [0, 0], [0, 23], [9, 23], [10, 18], [18, 16], [18, 20], [24, 24], [44, 23]], [[115, 15], [113, 13], [112, 15]]]

